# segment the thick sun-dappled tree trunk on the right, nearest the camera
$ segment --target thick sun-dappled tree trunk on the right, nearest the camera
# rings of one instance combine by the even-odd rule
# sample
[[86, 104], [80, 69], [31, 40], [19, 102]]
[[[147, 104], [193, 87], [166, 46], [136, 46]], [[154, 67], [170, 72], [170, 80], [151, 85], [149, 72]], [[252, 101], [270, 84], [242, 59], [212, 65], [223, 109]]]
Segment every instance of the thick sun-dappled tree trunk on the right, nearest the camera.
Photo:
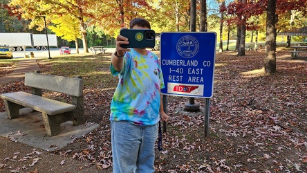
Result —
[[264, 59], [264, 70], [266, 73], [276, 72], [276, 1], [268, 0], [266, 15], [266, 57]]

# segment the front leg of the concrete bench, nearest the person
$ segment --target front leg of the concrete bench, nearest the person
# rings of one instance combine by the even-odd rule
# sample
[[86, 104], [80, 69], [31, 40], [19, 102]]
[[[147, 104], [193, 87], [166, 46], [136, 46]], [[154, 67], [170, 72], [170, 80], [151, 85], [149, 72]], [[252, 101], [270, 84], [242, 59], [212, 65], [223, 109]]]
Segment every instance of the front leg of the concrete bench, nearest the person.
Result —
[[70, 113], [61, 113], [58, 115], [50, 116], [46, 113], [43, 114], [43, 120], [45, 125], [46, 134], [49, 136], [55, 136], [61, 131], [60, 125], [62, 122], [66, 122], [71, 119]]

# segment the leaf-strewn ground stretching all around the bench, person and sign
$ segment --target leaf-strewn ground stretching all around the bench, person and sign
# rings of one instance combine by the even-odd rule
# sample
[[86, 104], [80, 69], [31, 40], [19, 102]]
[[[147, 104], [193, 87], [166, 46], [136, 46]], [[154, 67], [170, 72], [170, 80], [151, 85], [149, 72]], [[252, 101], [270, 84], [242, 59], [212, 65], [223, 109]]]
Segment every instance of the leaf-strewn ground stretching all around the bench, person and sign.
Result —
[[[184, 111], [189, 98], [168, 96], [170, 118], [163, 151], [156, 149], [156, 172], [307, 172], [307, 58], [292, 60], [285, 55], [288, 52], [277, 52], [277, 73], [268, 75], [262, 69], [263, 52], [247, 51], [243, 57], [216, 53], [207, 138], [204, 110]], [[38, 60], [41, 73], [82, 75], [86, 117], [100, 124], [54, 154], [104, 172], [112, 170], [109, 106], [118, 82], [109, 73], [109, 58]], [[13, 91], [29, 89], [23, 80], [1, 86], [1, 93]], [[195, 101], [204, 107], [205, 99]], [[0, 109], [5, 111], [3, 102]], [[0, 161], [0, 170], [1, 166], [8, 165]]]

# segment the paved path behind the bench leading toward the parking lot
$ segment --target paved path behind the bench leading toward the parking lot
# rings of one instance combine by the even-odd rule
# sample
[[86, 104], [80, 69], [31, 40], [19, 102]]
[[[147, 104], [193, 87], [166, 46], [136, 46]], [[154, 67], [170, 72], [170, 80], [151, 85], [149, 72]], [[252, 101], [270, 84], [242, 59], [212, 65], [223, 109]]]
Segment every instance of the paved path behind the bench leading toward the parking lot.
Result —
[[0, 78], [0, 86], [24, 78], [24, 73], [27, 71], [39, 70], [39, 65], [37, 64], [36, 60], [21, 60], [15, 66], [12, 73], [10, 73], [9, 75], [4, 75]]

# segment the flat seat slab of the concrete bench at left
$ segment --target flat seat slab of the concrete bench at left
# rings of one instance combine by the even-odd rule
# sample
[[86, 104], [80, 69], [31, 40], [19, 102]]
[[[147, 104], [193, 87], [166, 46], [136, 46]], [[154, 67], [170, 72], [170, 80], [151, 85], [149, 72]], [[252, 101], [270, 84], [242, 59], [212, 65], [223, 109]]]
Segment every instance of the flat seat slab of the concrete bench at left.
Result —
[[43, 98], [38, 95], [32, 95], [22, 91], [15, 93], [3, 93], [0, 95], [3, 100], [21, 104], [36, 111], [47, 113], [48, 115], [56, 115], [67, 111], [73, 111], [76, 107], [73, 104], [59, 102], [49, 98]]

